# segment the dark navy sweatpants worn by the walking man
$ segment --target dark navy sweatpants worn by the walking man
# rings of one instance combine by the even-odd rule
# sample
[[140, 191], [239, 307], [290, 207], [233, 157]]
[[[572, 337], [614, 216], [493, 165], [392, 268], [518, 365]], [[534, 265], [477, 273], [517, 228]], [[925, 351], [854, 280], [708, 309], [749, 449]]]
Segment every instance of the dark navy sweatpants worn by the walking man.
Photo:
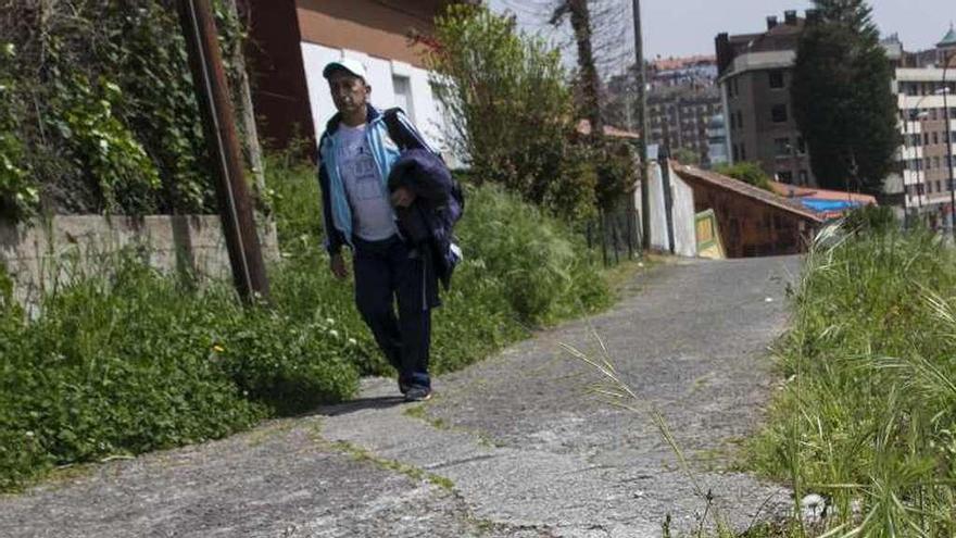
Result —
[[430, 387], [431, 308], [438, 300], [429, 264], [398, 236], [353, 242], [358, 313], [402, 383]]

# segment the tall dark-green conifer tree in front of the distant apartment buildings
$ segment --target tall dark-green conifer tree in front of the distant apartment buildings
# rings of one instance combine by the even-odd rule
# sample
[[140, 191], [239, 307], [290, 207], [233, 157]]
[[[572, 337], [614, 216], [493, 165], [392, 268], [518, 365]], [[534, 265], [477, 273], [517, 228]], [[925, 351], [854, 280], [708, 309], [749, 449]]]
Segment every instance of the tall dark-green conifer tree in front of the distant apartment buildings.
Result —
[[822, 187], [880, 193], [900, 143], [892, 65], [865, 0], [814, 3], [791, 86], [810, 166]]

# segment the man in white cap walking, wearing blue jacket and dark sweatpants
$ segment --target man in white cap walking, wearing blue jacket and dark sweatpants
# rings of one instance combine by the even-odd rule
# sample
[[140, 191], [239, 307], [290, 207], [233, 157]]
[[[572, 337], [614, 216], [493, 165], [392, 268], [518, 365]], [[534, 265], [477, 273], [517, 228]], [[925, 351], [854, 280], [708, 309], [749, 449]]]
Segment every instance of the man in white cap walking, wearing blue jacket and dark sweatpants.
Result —
[[395, 208], [410, 208], [416, 195], [406, 186], [389, 192], [388, 177], [401, 150], [430, 150], [403, 114], [398, 113], [390, 128], [382, 113], [368, 103], [372, 87], [362, 63], [331, 62], [323, 76], [338, 110], [319, 141], [318, 176], [331, 272], [339, 279], [348, 277], [341, 249], [349, 246], [362, 318], [399, 371], [405, 400], [427, 400], [437, 279], [425, 249], [411, 245], [395, 220]]

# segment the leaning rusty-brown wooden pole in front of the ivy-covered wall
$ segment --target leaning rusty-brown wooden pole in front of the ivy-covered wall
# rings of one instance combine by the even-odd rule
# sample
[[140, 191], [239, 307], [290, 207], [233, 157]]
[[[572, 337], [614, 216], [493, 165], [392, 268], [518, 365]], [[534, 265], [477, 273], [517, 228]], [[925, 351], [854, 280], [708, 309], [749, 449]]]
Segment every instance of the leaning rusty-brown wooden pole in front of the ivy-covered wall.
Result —
[[259, 245], [218, 33], [209, 0], [177, 0], [189, 66], [214, 168], [219, 218], [232, 279], [246, 300], [268, 299], [268, 279]]

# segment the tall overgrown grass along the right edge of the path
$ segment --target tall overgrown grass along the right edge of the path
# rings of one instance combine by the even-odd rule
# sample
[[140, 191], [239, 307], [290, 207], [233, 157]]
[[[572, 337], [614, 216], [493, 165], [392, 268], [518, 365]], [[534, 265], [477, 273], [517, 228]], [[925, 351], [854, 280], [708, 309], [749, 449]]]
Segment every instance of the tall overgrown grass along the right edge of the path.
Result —
[[953, 249], [926, 230], [826, 234], [794, 291], [785, 386], [750, 461], [828, 500], [801, 536], [956, 535]]

